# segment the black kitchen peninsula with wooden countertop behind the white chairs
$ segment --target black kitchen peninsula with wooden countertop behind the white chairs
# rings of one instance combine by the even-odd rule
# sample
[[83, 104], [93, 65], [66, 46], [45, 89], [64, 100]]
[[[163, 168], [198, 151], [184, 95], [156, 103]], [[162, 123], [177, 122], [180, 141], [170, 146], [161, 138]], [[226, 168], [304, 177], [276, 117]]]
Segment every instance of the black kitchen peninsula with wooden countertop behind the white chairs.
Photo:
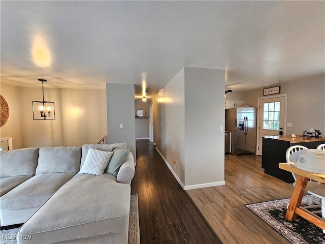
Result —
[[264, 136], [262, 147], [262, 168], [266, 174], [272, 175], [288, 183], [294, 182], [292, 174], [279, 169], [279, 163], [285, 163], [286, 150], [293, 145], [316, 148], [319, 144], [325, 143], [325, 138], [296, 135], [290, 136]]

